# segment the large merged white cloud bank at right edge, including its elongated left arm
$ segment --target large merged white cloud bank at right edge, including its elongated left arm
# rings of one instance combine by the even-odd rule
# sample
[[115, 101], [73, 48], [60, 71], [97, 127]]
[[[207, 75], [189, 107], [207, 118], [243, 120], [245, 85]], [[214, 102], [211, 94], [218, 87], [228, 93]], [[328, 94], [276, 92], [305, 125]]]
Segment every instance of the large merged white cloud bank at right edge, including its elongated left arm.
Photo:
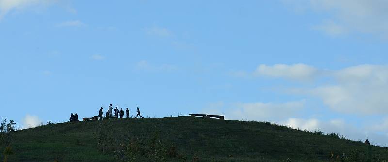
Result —
[[304, 64], [259, 65], [254, 74], [294, 81], [313, 80], [315, 88], [290, 88], [288, 92], [316, 96], [337, 112], [388, 113], [388, 100], [384, 98], [388, 96], [388, 66], [358, 65], [329, 71]]

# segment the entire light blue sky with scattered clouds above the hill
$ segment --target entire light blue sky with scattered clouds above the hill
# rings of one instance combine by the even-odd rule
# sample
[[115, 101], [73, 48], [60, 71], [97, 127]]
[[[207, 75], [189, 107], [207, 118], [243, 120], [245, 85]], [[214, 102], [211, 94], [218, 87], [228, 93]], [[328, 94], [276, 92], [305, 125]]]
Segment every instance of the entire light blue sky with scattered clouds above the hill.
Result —
[[2, 117], [109, 104], [223, 114], [387, 145], [381, 0], [0, 0]]

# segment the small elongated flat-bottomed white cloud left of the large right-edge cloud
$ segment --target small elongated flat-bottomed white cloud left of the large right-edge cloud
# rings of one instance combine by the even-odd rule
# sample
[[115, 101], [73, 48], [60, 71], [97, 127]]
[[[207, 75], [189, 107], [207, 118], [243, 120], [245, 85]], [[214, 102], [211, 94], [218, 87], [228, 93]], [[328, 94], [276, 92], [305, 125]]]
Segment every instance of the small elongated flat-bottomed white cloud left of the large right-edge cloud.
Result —
[[319, 71], [305, 64], [276, 64], [273, 66], [259, 65], [254, 72], [256, 76], [283, 77], [293, 80], [312, 80], [319, 74]]

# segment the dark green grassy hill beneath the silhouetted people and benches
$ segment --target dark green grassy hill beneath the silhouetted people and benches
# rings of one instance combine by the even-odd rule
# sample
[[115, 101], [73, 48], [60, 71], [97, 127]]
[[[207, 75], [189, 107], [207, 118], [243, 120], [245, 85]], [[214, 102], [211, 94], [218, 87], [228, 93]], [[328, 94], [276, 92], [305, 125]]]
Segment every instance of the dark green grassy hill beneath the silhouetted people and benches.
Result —
[[[387, 162], [386, 147], [268, 122], [195, 117], [48, 124], [16, 131], [9, 162]], [[3, 149], [3, 148], [1, 148]], [[3, 155], [1, 155], [3, 159]]]

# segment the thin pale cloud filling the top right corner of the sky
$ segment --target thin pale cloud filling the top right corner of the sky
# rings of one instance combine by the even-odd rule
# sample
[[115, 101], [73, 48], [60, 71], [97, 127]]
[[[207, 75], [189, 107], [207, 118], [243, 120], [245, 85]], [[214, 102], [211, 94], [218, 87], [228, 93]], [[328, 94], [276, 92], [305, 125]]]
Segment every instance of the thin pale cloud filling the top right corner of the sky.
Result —
[[[298, 9], [310, 8], [316, 12], [327, 13], [328, 24], [323, 20], [319, 25], [330, 35], [350, 32], [373, 33], [388, 36], [387, 0], [285, 0]], [[303, 7], [301, 7], [303, 6]]]

